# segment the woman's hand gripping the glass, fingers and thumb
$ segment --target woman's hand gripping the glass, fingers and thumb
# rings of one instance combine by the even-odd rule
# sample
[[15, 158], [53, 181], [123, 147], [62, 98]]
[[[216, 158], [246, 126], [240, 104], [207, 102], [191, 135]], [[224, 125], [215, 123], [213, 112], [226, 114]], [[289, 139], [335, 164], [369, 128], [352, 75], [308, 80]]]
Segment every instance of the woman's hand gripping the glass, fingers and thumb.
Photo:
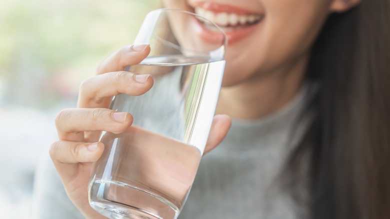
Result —
[[[103, 217], [89, 206], [87, 194], [91, 164], [104, 149], [99, 135], [102, 130], [121, 133], [132, 123], [131, 114], [107, 107], [114, 95], [140, 95], [151, 88], [150, 75], [123, 71], [139, 63], [149, 51], [148, 45], [131, 45], [108, 56], [97, 68], [97, 75], [81, 84], [77, 108], [64, 109], [56, 117], [59, 140], [51, 145], [50, 157], [68, 197], [85, 217]], [[229, 127], [228, 116], [214, 117], [204, 153], [223, 139]]]

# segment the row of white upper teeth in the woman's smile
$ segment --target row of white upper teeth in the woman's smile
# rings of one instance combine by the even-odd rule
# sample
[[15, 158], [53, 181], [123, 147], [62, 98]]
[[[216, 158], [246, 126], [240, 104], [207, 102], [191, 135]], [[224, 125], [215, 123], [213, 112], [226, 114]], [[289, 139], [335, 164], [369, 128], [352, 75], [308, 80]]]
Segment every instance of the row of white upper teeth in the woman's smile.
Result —
[[259, 14], [238, 15], [236, 13], [226, 12], [214, 13], [201, 7], [195, 7], [195, 13], [208, 20], [213, 21], [219, 26], [252, 24], [262, 18], [262, 16]]

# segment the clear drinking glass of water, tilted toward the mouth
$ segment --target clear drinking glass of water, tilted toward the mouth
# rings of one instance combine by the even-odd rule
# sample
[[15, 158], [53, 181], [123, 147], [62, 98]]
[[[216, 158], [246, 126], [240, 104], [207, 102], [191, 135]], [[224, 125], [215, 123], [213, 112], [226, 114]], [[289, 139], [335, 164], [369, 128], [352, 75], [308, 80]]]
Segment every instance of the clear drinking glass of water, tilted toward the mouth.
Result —
[[114, 97], [133, 124], [103, 132], [89, 203], [110, 218], [177, 218], [203, 153], [224, 69], [226, 36], [214, 23], [177, 9], [149, 12], [134, 44], [150, 54], [126, 70], [153, 76], [145, 94]]

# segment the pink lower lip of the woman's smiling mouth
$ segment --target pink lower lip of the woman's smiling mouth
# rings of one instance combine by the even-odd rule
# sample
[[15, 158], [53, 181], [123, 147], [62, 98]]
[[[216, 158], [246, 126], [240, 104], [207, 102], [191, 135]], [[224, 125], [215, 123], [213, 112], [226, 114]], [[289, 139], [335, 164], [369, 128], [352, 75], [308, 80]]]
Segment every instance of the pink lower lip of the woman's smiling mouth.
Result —
[[[212, 43], [220, 43], [222, 41], [222, 35], [220, 33], [213, 32], [207, 29], [196, 18], [194, 18], [193, 20], [194, 20], [195, 31], [200, 35], [201, 38], [203, 38], [203, 40]], [[258, 23], [253, 25], [243, 26], [237, 28], [236, 30], [225, 32], [227, 36], [228, 44], [229, 45], [234, 44], [239, 40], [241, 40], [242, 38], [250, 35], [260, 23], [262, 23], [262, 20], [260, 20]]]

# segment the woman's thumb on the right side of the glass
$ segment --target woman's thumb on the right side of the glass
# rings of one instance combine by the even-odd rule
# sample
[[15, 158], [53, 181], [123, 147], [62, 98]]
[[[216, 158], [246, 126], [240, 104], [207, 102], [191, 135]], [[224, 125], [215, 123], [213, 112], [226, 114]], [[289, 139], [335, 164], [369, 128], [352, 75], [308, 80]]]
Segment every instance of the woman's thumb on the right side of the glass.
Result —
[[228, 115], [214, 116], [203, 155], [214, 149], [223, 140], [230, 128], [230, 125], [231, 119]]

